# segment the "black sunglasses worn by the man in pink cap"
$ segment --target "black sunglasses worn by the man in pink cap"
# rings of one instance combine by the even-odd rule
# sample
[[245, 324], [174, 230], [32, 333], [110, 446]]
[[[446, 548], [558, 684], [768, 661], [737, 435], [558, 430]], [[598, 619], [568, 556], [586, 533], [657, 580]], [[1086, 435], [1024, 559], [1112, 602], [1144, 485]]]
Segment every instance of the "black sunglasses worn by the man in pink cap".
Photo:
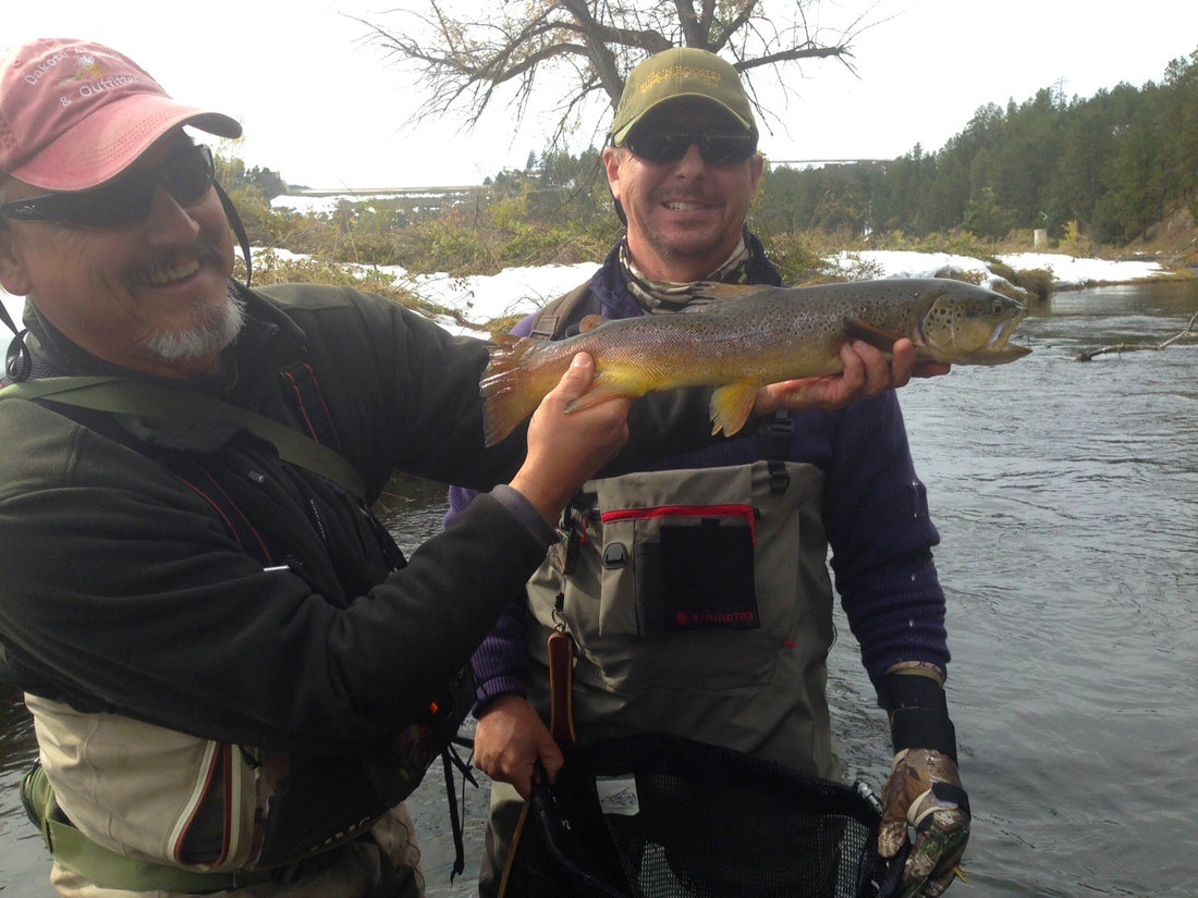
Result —
[[212, 151], [202, 144], [171, 153], [162, 165], [135, 169], [105, 184], [78, 193], [47, 193], [0, 204], [0, 217], [13, 222], [58, 222], [77, 227], [125, 227], [145, 222], [158, 184], [181, 205], [202, 200], [212, 188]]

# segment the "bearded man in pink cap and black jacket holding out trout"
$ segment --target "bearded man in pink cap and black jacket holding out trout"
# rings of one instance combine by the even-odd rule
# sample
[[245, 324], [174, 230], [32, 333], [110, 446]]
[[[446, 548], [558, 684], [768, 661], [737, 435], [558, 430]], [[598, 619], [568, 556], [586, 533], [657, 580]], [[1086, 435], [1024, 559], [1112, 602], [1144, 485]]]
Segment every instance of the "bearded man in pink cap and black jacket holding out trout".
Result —
[[[580, 357], [484, 448], [485, 344], [232, 280], [236, 212], [184, 127], [241, 132], [99, 44], [0, 56], [0, 284], [28, 298], [0, 393], [0, 676], [36, 724], [26, 807], [63, 896], [417, 896], [401, 801], [471, 651], [598, 468], [715, 439], [707, 396], [567, 415]], [[845, 356], [758, 411], [914, 365]], [[395, 471], [490, 492], [409, 565], [370, 512]]]

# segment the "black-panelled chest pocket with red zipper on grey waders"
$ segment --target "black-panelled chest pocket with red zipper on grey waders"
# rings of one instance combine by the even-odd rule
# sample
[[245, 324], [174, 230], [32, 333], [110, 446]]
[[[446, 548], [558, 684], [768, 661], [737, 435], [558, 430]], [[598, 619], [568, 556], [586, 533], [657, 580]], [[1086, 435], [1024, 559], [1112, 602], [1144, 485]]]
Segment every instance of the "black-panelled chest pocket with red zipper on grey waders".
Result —
[[761, 627], [752, 506], [616, 509], [603, 524], [604, 591], [631, 599], [636, 633]]

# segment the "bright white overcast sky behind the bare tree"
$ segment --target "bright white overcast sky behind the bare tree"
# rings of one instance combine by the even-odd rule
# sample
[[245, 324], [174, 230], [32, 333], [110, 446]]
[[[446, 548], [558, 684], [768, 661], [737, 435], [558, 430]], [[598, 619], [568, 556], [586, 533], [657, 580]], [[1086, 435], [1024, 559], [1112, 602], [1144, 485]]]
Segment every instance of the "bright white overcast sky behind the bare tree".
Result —
[[[791, 0], [763, 0], [772, 5]], [[132, 56], [176, 98], [238, 119], [249, 165], [311, 187], [477, 184], [522, 168], [544, 134], [513, 134], [507, 110], [459, 133], [459, 122], [407, 123], [410, 75], [363, 43], [361, 22], [397, 22], [406, 0], [10, 0], [0, 41], [79, 37]], [[870, 8], [823, 0], [825, 20]], [[1022, 103], [1041, 87], [1090, 97], [1125, 81], [1160, 81], [1169, 60], [1198, 49], [1193, 0], [879, 0], [854, 42], [857, 75], [834, 60], [792, 69], [762, 150], [775, 160], [895, 158], [940, 148], [987, 103]], [[595, 117], [599, 119], [597, 111]], [[606, 125], [588, 122], [588, 128]], [[589, 135], [589, 131], [588, 131]]]

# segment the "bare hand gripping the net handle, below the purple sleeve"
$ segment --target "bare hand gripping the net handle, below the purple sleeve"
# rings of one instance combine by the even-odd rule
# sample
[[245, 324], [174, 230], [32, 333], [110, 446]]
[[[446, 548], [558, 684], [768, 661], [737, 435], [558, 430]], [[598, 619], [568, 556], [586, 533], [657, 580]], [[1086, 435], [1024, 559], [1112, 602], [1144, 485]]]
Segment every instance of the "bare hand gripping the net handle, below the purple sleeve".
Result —
[[527, 799], [538, 760], [550, 782], [565, 763], [537, 710], [521, 696], [495, 699], [474, 730], [474, 764], [491, 779], [510, 783]]

